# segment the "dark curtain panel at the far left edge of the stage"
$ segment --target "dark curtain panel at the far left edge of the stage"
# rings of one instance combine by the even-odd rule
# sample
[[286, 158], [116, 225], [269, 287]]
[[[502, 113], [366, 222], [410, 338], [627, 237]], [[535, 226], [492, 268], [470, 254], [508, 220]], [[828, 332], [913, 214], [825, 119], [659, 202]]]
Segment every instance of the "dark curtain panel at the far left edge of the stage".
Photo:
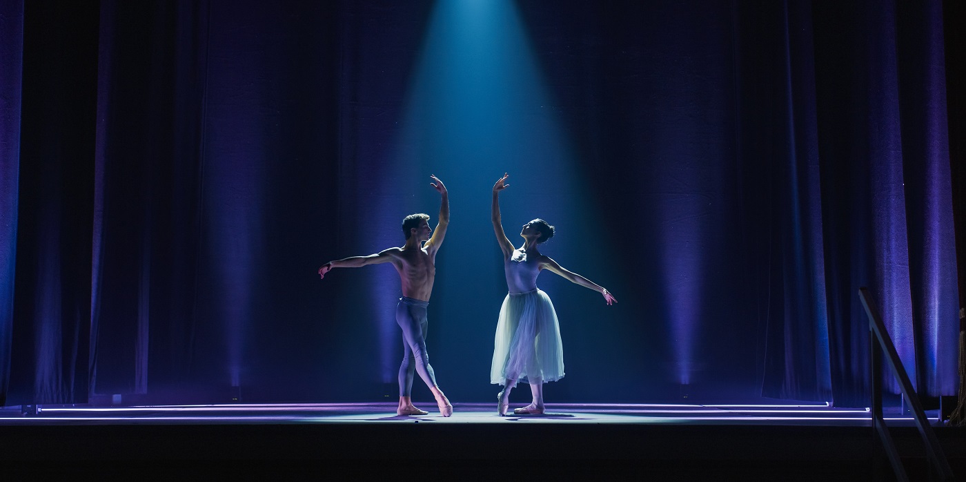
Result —
[[[12, 174], [4, 173], [3, 210], [14, 221], [5, 226], [10, 231], [3, 244], [15, 259], [4, 266], [14, 272], [14, 284], [4, 295], [13, 313], [0, 330], [9, 336], [2, 356], [9, 385], [0, 398], [83, 403], [89, 388], [97, 18], [90, 5], [25, 2], [22, 26], [22, 64], [8, 69], [5, 62], [3, 77], [4, 92], [20, 108], [3, 134], [13, 137], [14, 147], [2, 161]], [[5, 28], [4, 39], [13, 32]]]

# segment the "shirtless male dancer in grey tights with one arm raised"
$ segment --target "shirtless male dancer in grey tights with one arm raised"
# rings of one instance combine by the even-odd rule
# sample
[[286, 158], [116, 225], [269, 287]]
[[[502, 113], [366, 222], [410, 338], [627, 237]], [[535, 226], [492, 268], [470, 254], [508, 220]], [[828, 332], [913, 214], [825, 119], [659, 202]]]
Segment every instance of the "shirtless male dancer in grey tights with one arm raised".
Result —
[[[399, 408], [396, 409], [398, 415], [429, 413], [412, 405], [410, 393], [413, 370], [419, 373], [419, 378], [433, 392], [442, 416], [453, 414], [453, 406], [436, 384], [436, 375], [429, 364], [429, 354], [426, 353], [426, 329], [429, 325], [426, 308], [429, 306], [429, 297], [433, 293], [433, 281], [436, 278], [436, 253], [440, 250], [442, 239], [446, 236], [446, 227], [449, 226], [449, 197], [446, 186], [440, 178], [430, 177], [436, 181], [430, 185], [440, 191], [442, 198], [440, 223], [436, 225], [436, 232], [429, 227], [429, 215], [410, 214], [403, 219], [403, 233], [406, 235], [406, 244], [403, 247], [390, 247], [369, 256], [329, 261], [319, 269], [319, 275], [323, 278], [333, 268], [360, 268], [380, 263], [392, 263], [399, 271], [403, 298], [396, 305], [396, 323], [403, 330], [403, 363], [399, 367]], [[432, 238], [430, 234], [433, 235]], [[423, 241], [426, 241], [425, 245]]]

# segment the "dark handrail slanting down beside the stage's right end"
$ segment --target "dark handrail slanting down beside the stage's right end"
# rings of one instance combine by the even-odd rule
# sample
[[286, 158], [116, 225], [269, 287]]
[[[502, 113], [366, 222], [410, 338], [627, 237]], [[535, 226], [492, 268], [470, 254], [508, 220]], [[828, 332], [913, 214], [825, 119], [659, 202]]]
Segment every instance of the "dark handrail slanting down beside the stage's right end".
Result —
[[879, 316], [879, 310], [872, 302], [867, 288], [859, 288], [859, 298], [862, 299], [862, 305], [866, 308], [868, 329], [871, 332], [872, 430], [878, 432], [879, 439], [882, 440], [883, 448], [886, 454], [889, 455], [889, 462], [895, 471], [895, 477], [900, 481], [909, 480], [905, 468], [902, 467], [902, 461], [899, 460], [898, 452], [895, 450], [892, 434], [889, 433], [889, 427], [886, 427], [886, 420], [882, 417], [882, 379], [879, 364], [883, 353], [886, 354], [886, 362], [892, 369], [895, 379], [898, 380], [902, 395], [909, 402], [909, 407], [913, 411], [916, 426], [919, 428], [919, 434], [925, 443], [926, 457], [932, 463], [932, 467], [938, 472], [940, 480], [953, 480], [952, 468], [950, 468], [950, 463], [946, 459], [946, 454], [943, 453], [943, 448], [939, 445], [939, 439], [936, 439], [936, 433], [933, 432], [932, 426], [929, 425], [928, 419], [925, 418], [923, 404], [920, 403], [919, 397], [916, 395], [916, 390], [913, 389], [912, 382], [909, 381], [909, 375], [902, 366], [899, 354], [895, 351], [893, 340], [889, 337], [889, 332], [886, 331], [886, 326], [882, 323], [882, 317]]

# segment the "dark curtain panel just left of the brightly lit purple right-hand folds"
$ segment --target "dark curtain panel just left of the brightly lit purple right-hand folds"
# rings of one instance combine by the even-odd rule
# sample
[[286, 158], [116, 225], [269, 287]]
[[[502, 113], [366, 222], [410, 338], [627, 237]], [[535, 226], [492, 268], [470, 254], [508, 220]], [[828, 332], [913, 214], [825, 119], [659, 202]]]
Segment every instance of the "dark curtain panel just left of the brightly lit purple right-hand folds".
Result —
[[[742, 159], [763, 395], [832, 400], [814, 25], [810, 5], [746, 6], [739, 23]], [[781, 40], [781, 42], [776, 42]], [[762, 86], [767, 86], [762, 90]], [[759, 173], [763, 173], [761, 175]], [[760, 291], [758, 291], [760, 290]]]

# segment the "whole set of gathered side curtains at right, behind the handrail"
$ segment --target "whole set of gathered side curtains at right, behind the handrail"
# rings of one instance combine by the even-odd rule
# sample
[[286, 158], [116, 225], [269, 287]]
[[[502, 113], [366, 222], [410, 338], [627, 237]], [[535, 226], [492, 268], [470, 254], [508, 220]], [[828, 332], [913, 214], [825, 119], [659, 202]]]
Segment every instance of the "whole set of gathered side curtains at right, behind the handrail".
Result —
[[757, 57], [739, 61], [742, 98], [753, 99], [740, 145], [750, 172], [769, 173], [749, 177], [761, 183], [753, 217], [770, 233], [753, 241], [769, 253], [759, 273], [768, 294], [759, 298], [769, 300], [763, 394], [865, 403], [860, 286], [878, 300], [914, 383], [952, 393], [958, 297], [941, 4], [739, 5], [738, 51]]

